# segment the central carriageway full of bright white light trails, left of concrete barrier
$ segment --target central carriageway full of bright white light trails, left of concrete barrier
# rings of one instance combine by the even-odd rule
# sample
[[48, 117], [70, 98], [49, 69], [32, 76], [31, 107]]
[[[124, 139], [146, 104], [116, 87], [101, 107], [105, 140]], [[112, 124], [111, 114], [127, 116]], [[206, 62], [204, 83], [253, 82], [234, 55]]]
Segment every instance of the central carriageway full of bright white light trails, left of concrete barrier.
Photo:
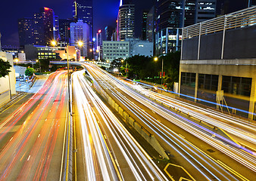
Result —
[[168, 180], [83, 73], [72, 76], [77, 180]]

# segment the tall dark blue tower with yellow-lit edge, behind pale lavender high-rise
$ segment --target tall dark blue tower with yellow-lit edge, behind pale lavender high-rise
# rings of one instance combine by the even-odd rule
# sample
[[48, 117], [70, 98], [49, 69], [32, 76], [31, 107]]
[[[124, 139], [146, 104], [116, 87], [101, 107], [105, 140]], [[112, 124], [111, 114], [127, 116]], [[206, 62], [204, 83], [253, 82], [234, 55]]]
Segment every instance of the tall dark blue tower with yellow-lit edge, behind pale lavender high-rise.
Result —
[[[73, 0], [73, 20], [82, 20], [89, 25], [89, 47], [92, 49], [93, 19], [92, 0]], [[92, 57], [92, 55], [90, 55]]]

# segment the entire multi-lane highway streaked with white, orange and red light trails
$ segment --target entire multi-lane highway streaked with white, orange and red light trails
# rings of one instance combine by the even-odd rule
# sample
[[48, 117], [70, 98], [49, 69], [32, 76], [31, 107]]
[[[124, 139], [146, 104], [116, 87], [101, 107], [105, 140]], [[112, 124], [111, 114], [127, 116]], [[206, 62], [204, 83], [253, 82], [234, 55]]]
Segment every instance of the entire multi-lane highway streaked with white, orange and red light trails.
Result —
[[[253, 123], [83, 66], [87, 74], [71, 76], [73, 119], [65, 71], [52, 73], [27, 102], [1, 113], [0, 180], [254, 180]], [[136, 140], [138, 133], [101, 91], [155, 136], [170, 159], [148, 152], [149, 143]], [[66, 160], [66, 150], [73, 160]], [[72, 176], [64, 173], [68, 161]]]

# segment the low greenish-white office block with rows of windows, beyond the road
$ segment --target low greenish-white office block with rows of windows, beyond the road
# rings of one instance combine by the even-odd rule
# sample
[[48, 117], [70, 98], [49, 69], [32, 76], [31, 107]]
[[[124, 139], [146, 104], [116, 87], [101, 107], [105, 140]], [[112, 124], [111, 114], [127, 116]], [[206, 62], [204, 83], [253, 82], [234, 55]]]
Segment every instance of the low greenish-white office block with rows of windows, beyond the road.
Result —
[[103, 60], [112, 61], [114, 59], [126, 59], [128, 57], [130, 57], [130, 41], [103, 41]]

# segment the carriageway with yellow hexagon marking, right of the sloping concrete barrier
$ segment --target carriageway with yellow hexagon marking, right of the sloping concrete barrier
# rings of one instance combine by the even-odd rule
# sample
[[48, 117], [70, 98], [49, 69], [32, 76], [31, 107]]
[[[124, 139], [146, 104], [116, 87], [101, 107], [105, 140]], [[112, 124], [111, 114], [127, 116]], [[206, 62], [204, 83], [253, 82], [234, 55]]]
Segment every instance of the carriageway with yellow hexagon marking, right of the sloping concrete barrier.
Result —
[[96, 66], [86, 69], [99, 87], [146, 127], [170, 153], [170, 161], [189, 170], [195, 180], [253, 180], [256, 159], [236, 143], [217, 136], [187, 117], [139, 94]]

